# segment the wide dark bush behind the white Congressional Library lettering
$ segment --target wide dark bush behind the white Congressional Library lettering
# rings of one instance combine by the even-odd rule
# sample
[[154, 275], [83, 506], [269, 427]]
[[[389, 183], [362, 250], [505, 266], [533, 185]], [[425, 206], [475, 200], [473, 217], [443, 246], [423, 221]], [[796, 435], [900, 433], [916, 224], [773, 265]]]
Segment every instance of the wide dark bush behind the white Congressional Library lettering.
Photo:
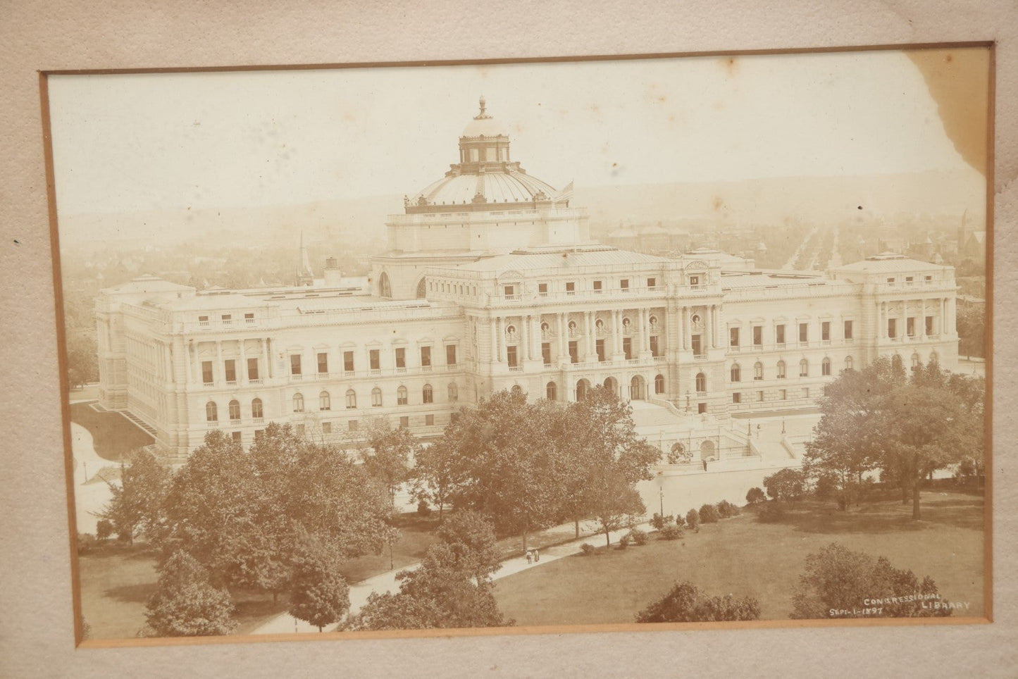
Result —
[[[900, 601], [886, 601], [892, 598]], [[870, 608], [866, 600], [885, 600], [872, 605], [880, 610], [870, 611], [870, 616], [951, 615], [951, 609], [934, 604], [942, 600], [937, 584], [928, 575], [919, 581], [912, 571], [894, 568], [884, 557], [874, 559], [864, 552], [853, 552], [831, 543], [806, 557], [806, 567], [799, 576], [799, 586], [792, 600], [795, 609], [791, 617], [852, 617], [855, 611]]]

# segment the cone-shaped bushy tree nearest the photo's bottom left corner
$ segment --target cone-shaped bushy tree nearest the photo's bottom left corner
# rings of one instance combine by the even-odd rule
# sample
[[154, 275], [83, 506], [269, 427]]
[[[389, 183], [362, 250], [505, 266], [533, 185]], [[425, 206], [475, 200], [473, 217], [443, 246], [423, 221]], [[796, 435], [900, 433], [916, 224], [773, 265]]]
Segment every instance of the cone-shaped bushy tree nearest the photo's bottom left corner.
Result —
[[229, 592], [212, 586], [186, 552], [176, 552], [159, 569], [145, 617], [153, 636], [210, 636], [233, 631], [232, 612]]

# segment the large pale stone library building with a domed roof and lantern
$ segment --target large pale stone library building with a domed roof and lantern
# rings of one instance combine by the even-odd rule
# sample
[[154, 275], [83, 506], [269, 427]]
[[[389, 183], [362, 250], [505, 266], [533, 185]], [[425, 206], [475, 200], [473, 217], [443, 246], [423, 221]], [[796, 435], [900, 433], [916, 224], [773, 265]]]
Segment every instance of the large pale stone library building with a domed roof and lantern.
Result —
[[142, 277], [104, 290], [101, 404], [182, 457], [210, 429], [246, 444], [270, 421], [342, 441], [385, 417], [436, 437], [502, 389], [566, 401], [607, 385], [718, 421], [812, 406], [880, 355], [957, 360], [951, 267], [886, 254], [778, 273], [711, 249], [641, 254], [591, 242], [571, 193], [512, 160], [482, 100], [459, 162], [389, 218], [373, 291], [334, 266], [310, 285], [306, 262], [283, 289]]

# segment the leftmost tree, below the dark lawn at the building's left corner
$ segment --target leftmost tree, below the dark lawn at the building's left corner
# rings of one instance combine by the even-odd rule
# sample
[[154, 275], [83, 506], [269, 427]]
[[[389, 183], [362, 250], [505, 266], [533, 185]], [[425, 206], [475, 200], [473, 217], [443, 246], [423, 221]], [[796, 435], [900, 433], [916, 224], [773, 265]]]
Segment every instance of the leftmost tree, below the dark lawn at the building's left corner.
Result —
[[158, 540], [163, 530], [163, 501], [169, 490], [170, 472], [156, 457], [144, 450], [131, 453], [130, 462], [120, 465], [120, 483], [107, 482], [110, 501], [98, 516], [112, 524], [121, 540], [133, 544], [146, 535]]

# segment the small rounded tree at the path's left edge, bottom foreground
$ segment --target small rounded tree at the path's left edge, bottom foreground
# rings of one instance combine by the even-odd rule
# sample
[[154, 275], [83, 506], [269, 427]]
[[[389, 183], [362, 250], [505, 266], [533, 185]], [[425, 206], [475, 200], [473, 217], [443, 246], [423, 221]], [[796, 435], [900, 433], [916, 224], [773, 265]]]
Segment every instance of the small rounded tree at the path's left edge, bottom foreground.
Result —
[[304, 535], [297, 548], [289, 613], [319, 628], [339, 622], [350, 608], [350, 588], [338, 565], [337, 550]]

